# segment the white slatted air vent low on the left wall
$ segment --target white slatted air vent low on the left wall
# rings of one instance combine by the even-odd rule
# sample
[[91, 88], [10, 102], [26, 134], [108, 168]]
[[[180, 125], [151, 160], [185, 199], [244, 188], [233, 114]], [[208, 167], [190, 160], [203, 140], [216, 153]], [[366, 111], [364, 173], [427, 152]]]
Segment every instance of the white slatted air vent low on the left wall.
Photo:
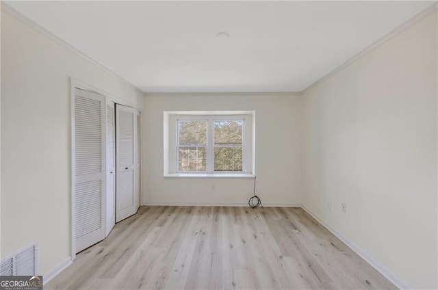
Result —
[[0, 264], [0, 276], [36, 275], [37, 244], [3, 259]]

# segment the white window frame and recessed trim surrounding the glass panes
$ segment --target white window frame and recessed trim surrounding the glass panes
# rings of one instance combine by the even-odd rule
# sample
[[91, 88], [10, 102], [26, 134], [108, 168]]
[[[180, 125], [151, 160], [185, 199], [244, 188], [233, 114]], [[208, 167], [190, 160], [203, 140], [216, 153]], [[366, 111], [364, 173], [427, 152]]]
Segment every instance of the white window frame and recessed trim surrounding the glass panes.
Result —
[[[164, 111], [164, 177], [253, 178], [255, 176], [255, 111]], [[178, 120], [244, 120], [242, 172], [214, 172], [214, 150], [209, 150], [207, 172], [178, 172]], [[213, 126], [213, 122], [209, 122]], [[213, 128], [208, 129], [207, 144], [213, 144]], [[214, 146], [214, 144], [213, 144]]]

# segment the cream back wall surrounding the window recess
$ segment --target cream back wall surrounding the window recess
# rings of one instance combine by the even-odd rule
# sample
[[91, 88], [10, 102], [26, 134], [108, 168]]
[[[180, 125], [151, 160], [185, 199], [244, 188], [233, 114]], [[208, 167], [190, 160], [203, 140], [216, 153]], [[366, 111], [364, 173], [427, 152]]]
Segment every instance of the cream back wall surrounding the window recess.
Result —
[[142, 204], [247, 204], [253, 179], [163, 177], [163, 111], [209, 110], [255, 111], [257, 194], [263, 205], [300, 205], [302, 96], [298, 94], [146, 94]]

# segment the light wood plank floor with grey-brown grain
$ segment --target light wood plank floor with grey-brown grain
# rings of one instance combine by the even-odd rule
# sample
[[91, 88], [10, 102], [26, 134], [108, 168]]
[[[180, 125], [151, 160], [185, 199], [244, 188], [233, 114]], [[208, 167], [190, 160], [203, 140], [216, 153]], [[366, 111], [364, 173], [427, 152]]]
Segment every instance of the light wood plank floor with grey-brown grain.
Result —
[[49, 289], [397, 289], [298, 208], [140, 207]]

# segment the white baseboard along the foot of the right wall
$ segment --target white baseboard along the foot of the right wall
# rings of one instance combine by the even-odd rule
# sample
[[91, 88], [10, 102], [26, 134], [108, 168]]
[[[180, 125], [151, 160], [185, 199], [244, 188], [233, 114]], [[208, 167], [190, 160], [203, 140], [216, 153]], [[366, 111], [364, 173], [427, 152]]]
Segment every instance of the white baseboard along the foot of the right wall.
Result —
[[329, 232], [331, 232], [333, 235], [335, 235], [335, 237], [337, 237], [338, 239], [340, 239], [343, 243], [345, 243], [348, 248], [350, 248], [351, 250], [353, 250], [353, 252], [355, 252], [356, 254], [358, 254], [359, 256], [361, 256], [362, 259], [364, 259], [368, 264], [370, 264], [372, 267], [374, 267], [374, 269], [377, 270], [377, 272], [379, 272], [380, 274], [382, 274], [383, 276], [385, 276], [385, 278], [387, 278], [389, 281], [391, 281], [394, 285], [396, 285], [396, 287], [398, 287], [399, 289], [404, 289], [404, 290], [409, 290], [411, 289], [411, 287], [409, 287], [409, 285], [407, 285], [406, 282], [402, 281], [400, 278], [398, 278], [394, 273], [392, 273], [391, 271], [389, 271], [389, 269], [387, 269], [386, 267], [384, 267], [383, 265], [381, 265], [381, 263], [378, 263], [374, 258], [372, 258], [372, 256], [366, 252], [364, 252], [363, 250], [361, 250], [359, 247], [357, 247], [355, 245], [355, 243], [352, 243], [352, 241], [350, 241], [349, 239], [347, 239], [346, 237], [344, 237], [343, 235], [341, 235], [340, 233], [338, 233], [336, 230], [333, 230], [333, 228], [331, 228], [329, 225], [327, 225], [326, 223], [322, 222], [322, 220], [320, 218], [318, 218], [316, 215], [314, 215], [311, 211], [309, 211], [309, 209], [307, 209], [304, 206], [301, 206], [302, 209], [304, 209], [307, 213], [309, 213], [309, 215], [311, 215], [312, 218], [314, 218], [315, 220], [317, 220], [320, 224], [322, 224], [322, 226], [324, 226], [324, 228], [326, 228], [327, 230], [329, 230]]

